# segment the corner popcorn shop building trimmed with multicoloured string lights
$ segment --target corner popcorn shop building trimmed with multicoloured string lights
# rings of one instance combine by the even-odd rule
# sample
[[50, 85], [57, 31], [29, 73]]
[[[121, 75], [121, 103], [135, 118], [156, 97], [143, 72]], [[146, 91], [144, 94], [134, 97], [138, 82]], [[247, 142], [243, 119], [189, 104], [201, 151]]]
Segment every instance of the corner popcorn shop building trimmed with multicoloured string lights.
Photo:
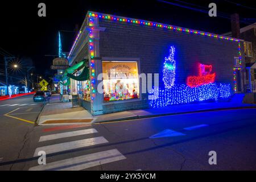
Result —
[[[88, 12], [68, 55], [76, 69], [64, 82], [94, 115], [228, 100], [245, 91], [241, 44], [208, 32]], [[142, 73], [151, 73], [152, 80], [158, 73], [159, 86], [144, 93]]]

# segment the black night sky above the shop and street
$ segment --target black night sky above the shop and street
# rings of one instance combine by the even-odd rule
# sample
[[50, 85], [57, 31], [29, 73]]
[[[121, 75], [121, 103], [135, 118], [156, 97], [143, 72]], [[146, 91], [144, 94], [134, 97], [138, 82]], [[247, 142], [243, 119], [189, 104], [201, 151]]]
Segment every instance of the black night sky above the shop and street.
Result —
[[[217, 13], [220, 11], [228, 15], [238, 13], [240, 18], [256, 18], [256, 5], [253, 5], [253, 1], [180, 0], [193, 3], [197, 7], [177, 0], [166, 1], [197, 9], [202, 9], [199, 7], [202, 6], [207, 11], [209, 3], [214, 2], [217, 4]], [[40, 2], [46, 3], [46, 18], [38, 16], [38, 3]], [[254, 9], [237, 6], [230, 2], [239, 2]], [[76, 36], [75, 32], [72, 32], [75, 30], [75, 24], [79, 24], [80, 28], [88, 10], [152, 20], [217, 34], [230, 31], [230, 19], [219, 16], [211, 18], [208, 14], [159, 1], [1, 1], [0, 47], [19, 58], [31, 57], [36, 68], [35, 72], [45, 75], [54, 58], [45, 55], [57, 55], [57, 32], [59, 30], [71, 31], [61, 32], [63, 51], [69, 52]], [[241, 27], [246, 25], [241, 23]], [[3, 69], [3, 56], [1, 55], [0, 61], [0, 69]]]

